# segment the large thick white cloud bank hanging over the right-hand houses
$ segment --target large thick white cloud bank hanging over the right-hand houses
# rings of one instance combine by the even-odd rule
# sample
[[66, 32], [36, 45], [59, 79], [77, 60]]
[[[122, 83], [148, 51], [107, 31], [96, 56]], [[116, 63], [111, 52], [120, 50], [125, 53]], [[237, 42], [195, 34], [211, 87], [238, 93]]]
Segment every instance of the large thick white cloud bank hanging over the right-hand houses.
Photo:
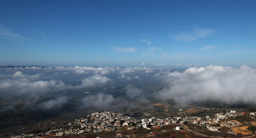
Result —
[[163, 75], [161, 79], [169, 85], [159, 92], [162, 99], [173, 99], [179, 103], [256, 104], [256, 69], [248, 66], [192, 67], [184, 72]]

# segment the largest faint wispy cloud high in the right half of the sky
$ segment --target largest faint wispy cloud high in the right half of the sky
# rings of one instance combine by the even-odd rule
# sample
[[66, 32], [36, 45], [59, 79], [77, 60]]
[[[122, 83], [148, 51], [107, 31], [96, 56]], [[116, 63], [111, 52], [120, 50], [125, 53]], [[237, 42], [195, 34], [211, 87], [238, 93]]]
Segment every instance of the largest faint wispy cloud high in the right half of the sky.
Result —
[[173, 37], [174, 37], [175, 40], [195, 41], [195, 40], [200, 39], [200, 38], [205, 38], [205, 37], [211, 35], [214, 32], [215, 32], [214, 29], [196, 27], [191, 32], [187, 32], [187, 33], [182, 32], [178, 35], [174, 35]]

